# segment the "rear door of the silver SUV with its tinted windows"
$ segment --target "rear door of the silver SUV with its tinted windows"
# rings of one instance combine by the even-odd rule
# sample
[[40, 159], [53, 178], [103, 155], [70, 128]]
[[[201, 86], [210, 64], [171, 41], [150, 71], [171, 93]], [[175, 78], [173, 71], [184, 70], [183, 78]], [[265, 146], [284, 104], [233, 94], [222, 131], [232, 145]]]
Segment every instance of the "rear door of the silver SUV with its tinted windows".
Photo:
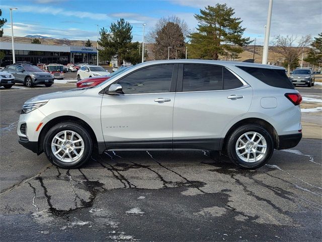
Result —
[[181, 64], [174, 149], [218, 149], [224, 129], [250, 108], [253, 89], [225, 67]]

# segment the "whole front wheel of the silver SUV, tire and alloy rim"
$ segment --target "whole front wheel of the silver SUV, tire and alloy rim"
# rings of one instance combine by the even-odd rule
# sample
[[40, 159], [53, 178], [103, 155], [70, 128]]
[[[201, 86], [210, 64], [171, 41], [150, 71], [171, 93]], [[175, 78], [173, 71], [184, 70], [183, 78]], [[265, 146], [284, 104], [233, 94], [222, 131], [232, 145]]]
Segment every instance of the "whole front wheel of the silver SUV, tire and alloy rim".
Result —
[[71, 122], [52, 127], [44, 139], [44, 151], [54, 165], [77, 168], [88, 161], [93, 152], [93, 141], [87, 130]]

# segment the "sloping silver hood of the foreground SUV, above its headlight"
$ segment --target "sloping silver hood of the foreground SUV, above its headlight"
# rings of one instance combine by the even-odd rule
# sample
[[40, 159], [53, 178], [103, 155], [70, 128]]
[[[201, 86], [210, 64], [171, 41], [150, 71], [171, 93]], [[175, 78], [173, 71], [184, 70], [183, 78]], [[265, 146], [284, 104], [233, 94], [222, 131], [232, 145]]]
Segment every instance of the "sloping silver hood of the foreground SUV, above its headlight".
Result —
[[81, 96], [86, 91], [87, 91], [87, 88], [77, 88], [77, 89], [71, 89], [67, 91], [42, 94], [28, 99], [25, 103], [46, 102], [50, 99], [76, 97], [76, 96]]

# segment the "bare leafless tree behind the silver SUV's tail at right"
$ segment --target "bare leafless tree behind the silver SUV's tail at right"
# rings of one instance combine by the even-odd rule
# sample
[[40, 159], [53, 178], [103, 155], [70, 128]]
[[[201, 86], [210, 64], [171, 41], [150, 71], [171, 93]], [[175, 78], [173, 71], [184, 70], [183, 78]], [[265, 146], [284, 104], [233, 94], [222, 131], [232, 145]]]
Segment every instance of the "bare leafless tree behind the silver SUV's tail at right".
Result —
[[275, 37], [274, 46], [277, 47], [275, 51], [285, 58], [287, 73], [290, 73], [291, 64], [299, 58], [303, 48], [310, 44], [311, 39], [310, 35], [302, 36], [301, 38], [293, 35], [287, 35], [286, 37], [278, 35]]

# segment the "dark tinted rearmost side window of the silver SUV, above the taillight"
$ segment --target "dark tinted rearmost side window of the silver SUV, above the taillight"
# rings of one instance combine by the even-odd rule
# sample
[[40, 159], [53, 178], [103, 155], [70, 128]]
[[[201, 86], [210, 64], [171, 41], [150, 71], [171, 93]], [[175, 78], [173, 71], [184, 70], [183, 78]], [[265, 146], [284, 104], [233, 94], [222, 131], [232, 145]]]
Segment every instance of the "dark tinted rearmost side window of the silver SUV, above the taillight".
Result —
[[240, 66], [238, 68], [272, 87], [295, 89], [284, 70]]

